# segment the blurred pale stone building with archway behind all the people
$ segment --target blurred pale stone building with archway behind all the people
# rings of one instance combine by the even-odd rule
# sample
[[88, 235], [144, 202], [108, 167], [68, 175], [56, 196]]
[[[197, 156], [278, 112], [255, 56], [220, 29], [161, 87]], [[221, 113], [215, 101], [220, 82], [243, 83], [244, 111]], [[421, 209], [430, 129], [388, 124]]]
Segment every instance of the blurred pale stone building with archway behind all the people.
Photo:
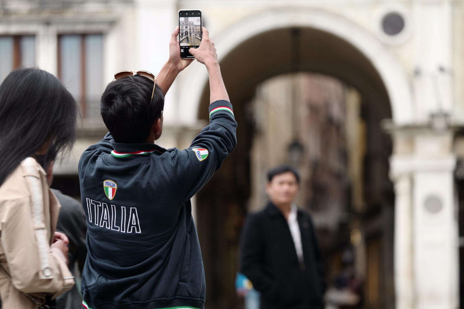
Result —
[[[245, 215], [265, 172], [302, 174], [299, 206], [326, 257], [329, 308], [451, 309], [463, 299], [464, 1], [2, 0], [0, 80], [37, 66], [81, 108], [53, 187], [80, 198], [80, 154], [107, 132], [99, 97], [119, 70], [157, 73], [179, 9], [201, 9], [238, 121], [238, 145], [194, 198], [206, 308], [234, 292]], [[166, 97], [163, 147], [207, 123], [206, 69]], [[461, 303], [463, 303], [461, 301]]]

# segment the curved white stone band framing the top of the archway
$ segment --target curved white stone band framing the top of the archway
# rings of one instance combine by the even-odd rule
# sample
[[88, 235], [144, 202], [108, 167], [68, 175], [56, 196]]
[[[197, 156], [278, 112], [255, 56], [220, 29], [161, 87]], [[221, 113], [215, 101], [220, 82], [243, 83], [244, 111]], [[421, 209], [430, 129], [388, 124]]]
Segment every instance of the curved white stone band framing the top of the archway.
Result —
[[[359, 50], [372, 64], [383, 82], [390, 101], [393, 121], [396, 124], [414, 121], [411, 89], [400, 63], [366, 30], [340, 16], [327, 12], [272, 10], [241, 20], [214, 37], [219, 63], [238, 45], [253, 37], [265, 32], [292, 27], [312, 28], [327, 32]], [[179, 104], [179, 118], [182, 123], [193, 124], [198, 119], [200, 101], [207, 81], [206, 70], [188, 70], [180, 89], [180, 98], [189, 98], [189, 100], [181, 100]]]

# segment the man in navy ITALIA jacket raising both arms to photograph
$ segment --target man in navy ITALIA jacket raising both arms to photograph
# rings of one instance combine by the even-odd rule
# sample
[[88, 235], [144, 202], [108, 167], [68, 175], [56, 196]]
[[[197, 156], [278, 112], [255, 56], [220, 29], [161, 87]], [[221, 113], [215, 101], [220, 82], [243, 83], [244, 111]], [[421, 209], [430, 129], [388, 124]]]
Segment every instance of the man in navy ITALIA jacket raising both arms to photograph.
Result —
[[214, 44], [202, 30], [200, 47], [190, 53], [208, 71], [210, 122], [189, 148], [154, 144], [162, 132], [164, 95], [192, 61], [180, 58], [179, 28], [156, 79], [146, 71], [119, 72], [102, 95], [110, 132], [79, 161], [87, 219], [84, 308], [204, 308], [205, 274], [190, 198], [234, 149], [237, 123]]

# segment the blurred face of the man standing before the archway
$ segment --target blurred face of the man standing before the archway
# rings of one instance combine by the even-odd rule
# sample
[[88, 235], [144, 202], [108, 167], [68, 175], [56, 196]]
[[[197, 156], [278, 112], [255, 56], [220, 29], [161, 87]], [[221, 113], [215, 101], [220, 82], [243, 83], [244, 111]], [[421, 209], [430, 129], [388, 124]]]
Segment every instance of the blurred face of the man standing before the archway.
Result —
[[298, 194], [299, 185], [292, 172], [285, 172], [272, 177], [266, 184], [266, 193], [275, 205], [290, 204]]

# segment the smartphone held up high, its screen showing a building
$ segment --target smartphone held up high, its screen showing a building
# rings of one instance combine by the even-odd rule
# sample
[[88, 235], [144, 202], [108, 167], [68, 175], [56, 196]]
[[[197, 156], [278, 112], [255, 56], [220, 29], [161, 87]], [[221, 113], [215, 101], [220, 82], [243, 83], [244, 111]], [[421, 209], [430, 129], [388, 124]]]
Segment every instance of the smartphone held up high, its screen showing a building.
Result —
[[202, 26], [203, 19], [201, 18], [201, 10], [179, 11], [179, 45], [181, 58], [193, 58], [188, 50], [200, 46]]

